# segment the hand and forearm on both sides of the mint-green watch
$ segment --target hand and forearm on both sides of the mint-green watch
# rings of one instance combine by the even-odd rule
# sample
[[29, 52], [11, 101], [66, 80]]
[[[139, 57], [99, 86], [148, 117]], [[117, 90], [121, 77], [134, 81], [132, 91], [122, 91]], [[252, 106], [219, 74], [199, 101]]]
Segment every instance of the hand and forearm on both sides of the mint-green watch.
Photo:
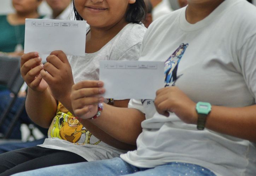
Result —
[[[197, 124], [196, 103], [177, 87], [157, 91], [155, 106], [159, 114], [175, 113], [188, 124]], [[247, 107], [212, 106], [205, 127], [219, 133], [256, 142], [256, 105]]]

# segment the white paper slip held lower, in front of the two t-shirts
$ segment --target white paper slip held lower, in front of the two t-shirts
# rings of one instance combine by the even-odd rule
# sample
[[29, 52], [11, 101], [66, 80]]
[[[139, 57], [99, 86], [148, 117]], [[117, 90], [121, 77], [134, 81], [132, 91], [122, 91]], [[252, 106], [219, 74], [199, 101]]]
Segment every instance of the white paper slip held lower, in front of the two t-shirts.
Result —
[[164, 62], [100, 61], [104, 98], [155, 99], [164, 85]]

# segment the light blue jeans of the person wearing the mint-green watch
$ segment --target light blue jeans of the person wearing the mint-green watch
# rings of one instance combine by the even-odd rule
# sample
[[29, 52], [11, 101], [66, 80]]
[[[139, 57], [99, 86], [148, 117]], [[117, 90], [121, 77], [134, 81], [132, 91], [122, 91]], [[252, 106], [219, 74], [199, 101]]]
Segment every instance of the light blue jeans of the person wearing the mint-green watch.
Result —
[[155, 168], [137, 168], [121, 158], [106, 159], [101, 161], [82, 162], [51, 166], [15, 174], [15, 176], [55, 176], [86, 175], [86, 176], [215, 176], [209, 169], [188, 163], [171, 162]]

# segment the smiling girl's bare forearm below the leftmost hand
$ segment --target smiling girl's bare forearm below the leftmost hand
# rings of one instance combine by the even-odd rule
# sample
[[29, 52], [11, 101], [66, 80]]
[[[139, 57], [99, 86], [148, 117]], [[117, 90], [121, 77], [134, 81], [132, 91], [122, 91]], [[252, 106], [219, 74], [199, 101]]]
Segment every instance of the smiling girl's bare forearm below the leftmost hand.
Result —
[[36, 92], [28, 88], [26, 111], [36, 124], [48, 128], [56, 115], [57, 102], [47, 88], [44, 92]]

